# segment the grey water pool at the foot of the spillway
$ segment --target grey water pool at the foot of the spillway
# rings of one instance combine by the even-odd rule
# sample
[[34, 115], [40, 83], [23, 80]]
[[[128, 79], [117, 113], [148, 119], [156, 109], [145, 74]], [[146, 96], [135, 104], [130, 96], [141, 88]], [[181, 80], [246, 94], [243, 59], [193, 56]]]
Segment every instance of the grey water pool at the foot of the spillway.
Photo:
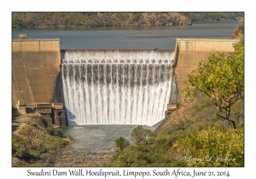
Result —
[[[92, 124], [67, 126], [63, 132], [72, 136], [75, 142], [72, 147], [78, 152], [108, 153], [114, 151], [114, 140], [120, 136], [131, 141], [131, 132], [137, 125], [127, 124]], [[144, 129], [154, 130], [154, 127], [143, 125]]]

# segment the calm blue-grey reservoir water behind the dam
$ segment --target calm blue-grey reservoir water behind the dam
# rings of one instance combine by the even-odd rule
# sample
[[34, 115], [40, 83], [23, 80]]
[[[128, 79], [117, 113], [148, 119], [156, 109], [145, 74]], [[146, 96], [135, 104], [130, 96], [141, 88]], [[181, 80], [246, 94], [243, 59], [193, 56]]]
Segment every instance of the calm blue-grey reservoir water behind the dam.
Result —
[[176, 38], [230, 38], [239, 20], [192, 26], [14, 29], [12, 38], [60, 38], [61, 49], [174, 49]]

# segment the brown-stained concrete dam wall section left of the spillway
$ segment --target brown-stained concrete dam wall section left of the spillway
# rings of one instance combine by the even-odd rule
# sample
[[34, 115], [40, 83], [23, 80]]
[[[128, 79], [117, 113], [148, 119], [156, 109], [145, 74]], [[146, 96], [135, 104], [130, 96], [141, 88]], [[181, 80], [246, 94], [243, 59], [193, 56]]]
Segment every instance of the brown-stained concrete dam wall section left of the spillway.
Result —
[[59, 38], [12, 40], [12, 105], [63, 102]]

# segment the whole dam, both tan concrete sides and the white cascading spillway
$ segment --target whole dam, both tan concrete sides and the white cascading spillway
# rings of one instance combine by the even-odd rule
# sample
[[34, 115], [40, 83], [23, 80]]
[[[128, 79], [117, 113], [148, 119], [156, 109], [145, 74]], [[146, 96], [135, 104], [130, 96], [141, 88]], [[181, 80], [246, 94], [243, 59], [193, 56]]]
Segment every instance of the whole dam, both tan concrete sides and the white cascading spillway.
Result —
[[198, 62], [212, 50], [234, 51], [236, 42], [177, 38], [175, 50], [60, 50], [59, 38], [13, 39], [12, 104], [65, 103], [70, 125], [157, 124], [167, 104], [182, 101], [177, 94]]

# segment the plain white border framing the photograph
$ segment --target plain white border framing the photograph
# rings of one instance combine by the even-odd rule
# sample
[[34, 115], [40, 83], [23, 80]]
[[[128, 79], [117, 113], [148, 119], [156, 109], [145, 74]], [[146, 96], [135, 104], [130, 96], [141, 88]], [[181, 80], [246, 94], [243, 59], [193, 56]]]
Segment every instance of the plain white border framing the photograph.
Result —
[[[252, 1], [251, 1], [252, 2]], [[245, 12], [245, 86], [246, 86], [246, 106], [245, 106], [245, 167], [244, 168], [197, 168], [196, 170], [229, 170], [231, 176], [229, 178], [241, 178], [244, 176], [255, 177], [255, 118], [253, 111], [255, 110], [255, 57], [253, 55], [255, 47], [253, 45], [253, 38], [255, 37], [255, 13], [253, 12], [253, 3], [246, 3], [241, 1], [230, 0], [215, 0], [215, 1], [4, 1], [1, 4], [1, 125], [2, 143], [0, 154], [0, 172], [1, 178], [12, 178], [18, 176], [19, 178], [26, 177], [26, 170], [28, 168], [12, 168], [11, 167], [11, 12], [12, 11], [242, 11]], [[254, 32], [254, 33], [253, 33]], [[50, 169], [50, 168], [47, 168]], [[55, 168], [52, 168], [55, 169]], [[58, 170], [68, 170], [68, 168], [57, 168]], [[89, 169], [89, 168], [86, 168]], [[100, 168], [91, 168], [92, 170], [99, 170]], [[104, 170], [115, 170], [114, 168], [103, 168]], [[127, 168], [126, 168], [127, 169]], [[132, 170], [153, 170], [154, 168], [132, 168]], [[160, 168], [158, 168], [160, 169]], [[174, 170], [175, 168], [171, 168]], [[39, 168], [35, 168], [39, 170]], [[121, 170], [121, 168], [119, 168]], [[129, 168], [131, 170], [131, 168]], [[183, 168], [183, 170], [193, 170], [193, 168]], [[49, 177], [49, 176], [47, 176]], [[63, 178], [63, 176], [52, 176]], [[209, 176], [210, 177], [210, 176]], [[67, 177], [66, 177], [67, 178]], [[90, 177], [86, 177], [90, 178]], [[93, 177], [95, 178], [95, 177]], [[104, 178], [104, 177], [101, 177]], [[108, 177], [112, 178], [112, 177]], [[128, 178], [128, 177], [127, 177]], [[132, 178], [132, 177], [131, 177]], [[137, 177], [139, 178], [139, 177]], [[154, 177], [150, 177], [154, 178]], [[167, 178], [167, 177], [166, 177]], [[168, 178], [174, 178], [169, 176]], [[189, 177], [178, 177], [189, 178]], [[215, 177], [216, 178], [216, 177]], [[221, 177], [224, 178], [224, 177]]]

